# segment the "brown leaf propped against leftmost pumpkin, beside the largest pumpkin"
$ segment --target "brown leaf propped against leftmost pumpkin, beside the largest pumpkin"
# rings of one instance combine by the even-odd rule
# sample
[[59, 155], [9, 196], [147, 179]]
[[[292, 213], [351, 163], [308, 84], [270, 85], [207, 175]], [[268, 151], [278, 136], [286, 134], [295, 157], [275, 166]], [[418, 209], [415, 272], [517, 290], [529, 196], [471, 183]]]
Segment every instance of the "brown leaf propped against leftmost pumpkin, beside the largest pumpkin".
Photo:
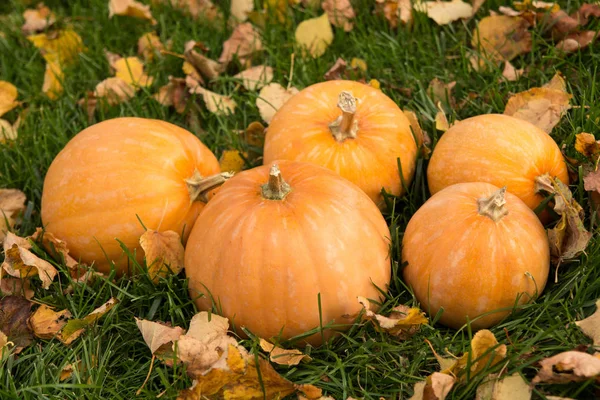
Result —
[[183, 244], [175, 231], [157, 232], [148, 229], [140, 237], [144, 250], [148, 275], [154, 283], [160, 277], [177, 275], [183, 270]]

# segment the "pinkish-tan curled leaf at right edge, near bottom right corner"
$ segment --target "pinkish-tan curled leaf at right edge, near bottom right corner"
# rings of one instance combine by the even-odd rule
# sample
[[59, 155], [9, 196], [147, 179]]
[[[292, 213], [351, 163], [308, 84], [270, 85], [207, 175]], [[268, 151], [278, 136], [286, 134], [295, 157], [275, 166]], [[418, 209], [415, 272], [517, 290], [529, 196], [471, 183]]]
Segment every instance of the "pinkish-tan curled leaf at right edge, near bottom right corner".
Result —
[[539, 383], [583, 382], [598, 379], [600, 358], [579, 351], [565, 351], [540, 361], [541, 369], [531, 381]]

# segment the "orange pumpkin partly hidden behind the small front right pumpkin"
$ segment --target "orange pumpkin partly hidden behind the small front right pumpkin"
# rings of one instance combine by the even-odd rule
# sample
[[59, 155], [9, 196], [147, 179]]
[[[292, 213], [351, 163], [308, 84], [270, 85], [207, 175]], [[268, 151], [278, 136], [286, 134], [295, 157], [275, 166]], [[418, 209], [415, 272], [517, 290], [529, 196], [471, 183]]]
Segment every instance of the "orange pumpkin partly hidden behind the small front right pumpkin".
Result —
[[554, 140], [527, 121], [485, 114], [457, 122], [442, 135], [429, 161], [427, 181], [432, 194], [462, 182], [506, 186], [535, 209], [544, 199], [536, 190], [536, 178], [544, 174], [569, 183]]

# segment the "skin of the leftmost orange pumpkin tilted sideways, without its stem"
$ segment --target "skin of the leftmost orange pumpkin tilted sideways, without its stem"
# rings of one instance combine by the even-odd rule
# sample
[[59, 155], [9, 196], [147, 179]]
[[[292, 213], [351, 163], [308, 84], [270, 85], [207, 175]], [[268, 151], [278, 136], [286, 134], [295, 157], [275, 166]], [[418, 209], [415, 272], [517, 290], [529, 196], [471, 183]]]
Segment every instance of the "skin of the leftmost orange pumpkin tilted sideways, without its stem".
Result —
[[185, 240], [204, 207], [190, 200], [184, 181], [195, 169], [209, 176], [219, 173], [219, 163], [182, 128], [143, 118], [100, 122], [71, 139], [50, 165], [42, 222], [75, 259], [106, 273], [108, 257], [119, 275], [131, 272], [116, 239], [141, 262], [139, 216], [148, 229], [183, 232]]

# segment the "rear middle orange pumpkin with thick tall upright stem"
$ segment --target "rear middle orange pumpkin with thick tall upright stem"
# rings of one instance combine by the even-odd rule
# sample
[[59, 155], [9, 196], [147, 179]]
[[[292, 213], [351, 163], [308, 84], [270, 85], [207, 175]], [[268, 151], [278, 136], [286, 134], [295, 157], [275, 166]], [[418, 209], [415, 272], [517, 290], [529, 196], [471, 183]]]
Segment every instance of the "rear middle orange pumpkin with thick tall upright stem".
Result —
[[345, 80], [317, 83], [288, 100], [273, 117], [264, 146], [265, 165], [279, 159], [321, 165], [379, 206], [382, 188], [404, 193], [398, 163], [408, 186], [416, 157], [410, 122], [396, 103], [378, 89]]

